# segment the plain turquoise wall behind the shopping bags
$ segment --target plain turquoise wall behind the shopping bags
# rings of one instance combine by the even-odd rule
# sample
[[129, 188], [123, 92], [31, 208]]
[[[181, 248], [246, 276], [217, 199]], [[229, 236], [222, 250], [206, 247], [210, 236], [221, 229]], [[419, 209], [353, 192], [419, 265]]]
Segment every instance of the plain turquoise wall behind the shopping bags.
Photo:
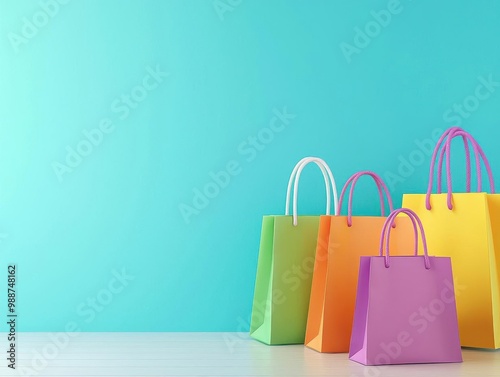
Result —
[[[0, 2], [0, 286], [16, 263], [22, 331], [72, 321], [247, 330], [262, 216], [283, 213], [288, 176], [307, 155], [330, 164], [339, 190], [356, 171], [378, 172], [399, 206], [426, 189], [429, 157], [416, 143], [459, 123], [500, 173], [500, 86], [467, 100], [481, 77], [500, 81], [498, 1], [402, 0], [378, 29], [370, 12], [391, 2], [74, 0], [48, 21], [44, 3], [54, 4]], [[25, 17], [47, 24], [16, 48]], [[341, 44], [355, 47], [356, 27], [375, 36], [348, 62]], [[127, 116], [113, 110], [148, 67], [169, 75], [135, 89], [147, 95]], [[464, 100], [474, 111], [457, 116]], [[295, 118], [262, 150], [241, 145], [270, 137], [261, 130], [284, 108]], [[60, 181], [54, 163], [103, 118], [112, 132]], [[239, 174], [185, 221], [179, 206], [230, 161]], [[454, 161], [460, 190], [459, 152]], [[308, 168], [300, 213], [322, 213], [323, 190]], [[363, 180], [355, 212], [378, 213], [376, 198]], [[122, 269], [134, 279], [109, 296]], [[92, 298], [107, 305], [91, 309]]]

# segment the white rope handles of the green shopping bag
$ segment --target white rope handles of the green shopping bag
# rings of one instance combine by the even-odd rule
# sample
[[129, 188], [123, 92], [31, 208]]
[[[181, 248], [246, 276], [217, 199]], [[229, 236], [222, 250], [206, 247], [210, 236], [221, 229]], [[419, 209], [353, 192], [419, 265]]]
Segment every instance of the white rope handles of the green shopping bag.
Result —
[[288, 180], [288, 188], [286, 192], [286, 209], [285, 215], [290, 214], [290, 196], [292, 190], [292, 183], [294, 183], [293, 187], [293, 225], [297, 226], [297, 201], [298, 201], [298, 191], [299, 191], [299, 179], [300, 174], [304, 167], [310, 162], [314, 162], [321, 169], [323, 173], [323, 178], [325, 180], [325, 188], [326, 188], [326, 214], [330, 214], [331, 208], [331, 191], [330, 184], [333, 189], [333, 203], [334, 203], [334, 213], [337, 211], [338, 207], [338, 195], [337, 195], [337, 186], [335, 184], [335, 179], [333, 178], [332, 171], [328, 164], [323, 161], [319, 157], [304, 157], [300, 160], [297, 165], [293, 168], [292, 174], [290, 175], [290, 179]]

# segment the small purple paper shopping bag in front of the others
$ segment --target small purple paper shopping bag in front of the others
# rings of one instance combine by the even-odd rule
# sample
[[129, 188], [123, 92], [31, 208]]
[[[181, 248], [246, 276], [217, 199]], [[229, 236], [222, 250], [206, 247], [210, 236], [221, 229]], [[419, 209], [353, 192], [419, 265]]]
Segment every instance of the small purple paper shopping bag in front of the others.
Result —
[[[415, 255], [390, 257], [390, 232], [400, 213], [413, 222]], [[422, 223], [409, 209], [387, 218], [379, 256], [361, 257], [349, 359], [364, 365], [462, 361], [451, 259], [428, 256]]]

